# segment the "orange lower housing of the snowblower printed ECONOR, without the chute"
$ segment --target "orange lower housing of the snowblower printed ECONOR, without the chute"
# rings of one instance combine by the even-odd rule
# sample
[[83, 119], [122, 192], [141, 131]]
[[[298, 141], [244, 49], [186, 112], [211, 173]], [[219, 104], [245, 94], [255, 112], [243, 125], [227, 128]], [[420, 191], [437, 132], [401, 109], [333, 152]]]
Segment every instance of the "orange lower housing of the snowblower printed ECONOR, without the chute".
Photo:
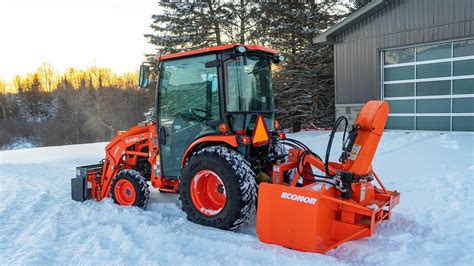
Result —
[[325, 253], [346, 241], [370, 236], [376, 224], [389, 218], [398, 197], [396, 192], [376, 192], [366, 207], [338, 198], [336, 189], [326, 183], [305, 187], [261, 183], [257, 236], [265, 243]]

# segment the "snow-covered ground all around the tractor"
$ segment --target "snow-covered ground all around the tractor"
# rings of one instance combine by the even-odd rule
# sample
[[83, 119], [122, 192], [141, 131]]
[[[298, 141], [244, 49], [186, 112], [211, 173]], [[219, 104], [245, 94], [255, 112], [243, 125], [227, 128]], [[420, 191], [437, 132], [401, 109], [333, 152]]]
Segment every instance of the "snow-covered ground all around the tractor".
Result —
[[[324, 154], [327, 132], [292, 134]], [[335, 141], [335, 145], [340, 142]], [[148, 210], [74, 202], [75, 166], [105, 143], [0, 152], [0, 264], [470, 264], [474, 261], [474, 134], [386, 132], [374, 169], [401, 203], [375, 235], [326, 255], [193, 224], [176, 195], [153, 191]], [[334, 157], [339, 155], [334, 146]]]

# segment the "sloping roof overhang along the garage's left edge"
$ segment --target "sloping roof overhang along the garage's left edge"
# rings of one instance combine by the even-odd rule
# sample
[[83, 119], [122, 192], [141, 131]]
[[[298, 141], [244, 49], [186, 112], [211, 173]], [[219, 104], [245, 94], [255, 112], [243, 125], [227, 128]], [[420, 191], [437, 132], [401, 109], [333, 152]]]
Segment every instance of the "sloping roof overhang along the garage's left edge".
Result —
[[392, 0], [373, 0], [363, 8], [357, 10], [341, 22], [326, 30], [324, 33], [314, 37], [313, 43], [334, 43], [336, 35], [384, 8], [391, 1]]

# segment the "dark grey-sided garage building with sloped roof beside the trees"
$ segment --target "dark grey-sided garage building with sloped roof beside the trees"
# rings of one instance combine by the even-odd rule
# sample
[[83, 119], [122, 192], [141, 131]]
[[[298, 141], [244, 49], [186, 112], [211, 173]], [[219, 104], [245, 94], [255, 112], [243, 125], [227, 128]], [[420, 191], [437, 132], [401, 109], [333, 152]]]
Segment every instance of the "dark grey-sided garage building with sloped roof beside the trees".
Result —
[[474, 1], [373, 0], [313, 42], [334, 47], [336, 117], [383, 99], [387, 129], [474, 131]]

